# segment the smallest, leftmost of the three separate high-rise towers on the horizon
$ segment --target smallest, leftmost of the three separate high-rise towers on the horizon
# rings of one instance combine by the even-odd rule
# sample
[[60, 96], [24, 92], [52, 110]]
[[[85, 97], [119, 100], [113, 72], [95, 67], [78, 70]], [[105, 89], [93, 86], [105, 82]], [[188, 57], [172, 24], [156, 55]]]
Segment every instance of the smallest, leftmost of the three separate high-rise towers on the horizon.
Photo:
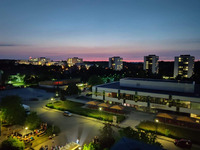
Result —
[[122, 70], [123, 69], [123, 58], [116, 56], [109, 58], [109, 68], [113, 70]]

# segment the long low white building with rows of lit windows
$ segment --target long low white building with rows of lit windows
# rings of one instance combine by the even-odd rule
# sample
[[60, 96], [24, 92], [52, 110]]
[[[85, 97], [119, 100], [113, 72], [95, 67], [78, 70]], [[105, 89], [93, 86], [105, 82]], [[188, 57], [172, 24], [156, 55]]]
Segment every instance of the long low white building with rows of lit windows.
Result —
[[92, 87], [92, 98], [137, 109], [178, 111], [200, 116], [200, 93], [193, 82], [123, 78]]

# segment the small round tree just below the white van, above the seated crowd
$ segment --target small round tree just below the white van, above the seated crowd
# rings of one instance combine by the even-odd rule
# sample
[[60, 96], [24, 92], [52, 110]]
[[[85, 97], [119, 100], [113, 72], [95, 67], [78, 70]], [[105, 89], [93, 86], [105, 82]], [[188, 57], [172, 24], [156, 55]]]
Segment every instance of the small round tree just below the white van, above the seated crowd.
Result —
[[27, 126], [29, 129], [34, 130], [37, 127], [39, 127], [41, 124], [41, 120], [38, 117], [36, 112], [31, 112], [25, 121], [25, 126]]

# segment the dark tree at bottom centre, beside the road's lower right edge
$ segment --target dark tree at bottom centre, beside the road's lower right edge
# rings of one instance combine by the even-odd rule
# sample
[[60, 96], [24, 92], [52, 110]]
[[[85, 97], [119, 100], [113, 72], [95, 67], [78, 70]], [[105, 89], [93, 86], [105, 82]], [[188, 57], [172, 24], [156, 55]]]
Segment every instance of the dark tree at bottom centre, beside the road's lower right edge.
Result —
[[105, 124], [105, 126], [100, 130], [99, 135], [100, 148], [110, 148], [114, 143], [114, 131], [110, 124]]

